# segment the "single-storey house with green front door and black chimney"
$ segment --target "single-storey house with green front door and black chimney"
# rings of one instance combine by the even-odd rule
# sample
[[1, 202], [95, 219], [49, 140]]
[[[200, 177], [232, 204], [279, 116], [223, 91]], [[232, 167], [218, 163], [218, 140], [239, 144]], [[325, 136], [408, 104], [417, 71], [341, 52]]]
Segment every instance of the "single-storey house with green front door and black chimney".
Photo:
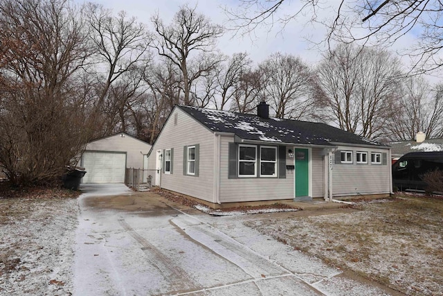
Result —
[[175, 106], [148, 154], [153, 184], [213, 204], [392, 192], [389, 146], [257, 114]]

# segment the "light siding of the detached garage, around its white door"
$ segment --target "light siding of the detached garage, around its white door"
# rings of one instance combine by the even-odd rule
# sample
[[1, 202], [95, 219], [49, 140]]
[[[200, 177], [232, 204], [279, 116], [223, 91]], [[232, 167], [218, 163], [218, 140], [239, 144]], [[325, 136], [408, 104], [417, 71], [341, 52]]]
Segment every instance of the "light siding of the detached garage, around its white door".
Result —
[[121, 134], [115, 134], [111, 137], [92, 141], [87, 144], [86, 150], [125, 152], [127, 153], [127, 168], [143, 168], [143, 154], [149, 152], [151, 145], [127, 134], [123, 135], [124, 137], [121, 137]]

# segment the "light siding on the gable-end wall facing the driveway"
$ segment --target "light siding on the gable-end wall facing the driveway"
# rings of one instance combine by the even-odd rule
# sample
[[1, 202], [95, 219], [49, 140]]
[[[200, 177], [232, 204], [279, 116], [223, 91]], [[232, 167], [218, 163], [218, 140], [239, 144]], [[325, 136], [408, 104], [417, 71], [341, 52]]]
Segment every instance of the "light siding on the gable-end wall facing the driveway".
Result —
[[[175, 125], [176, 122], [177, 125]], [[210, 132], [188, 114], [175, 108], [154, 143], [150, 157], [148, 157], [148, 168], [154, 172], [152, 184], [156, 184], [154, 171], [156, 150], [163, 151], [163, 149], [174, 148], [173, 173], [161, 174], [161, 187], [214, 202], [214, 137], [213, 132]], [[183, 146], [196, 144], [199, 147], [198, 176], [183, 175]]]

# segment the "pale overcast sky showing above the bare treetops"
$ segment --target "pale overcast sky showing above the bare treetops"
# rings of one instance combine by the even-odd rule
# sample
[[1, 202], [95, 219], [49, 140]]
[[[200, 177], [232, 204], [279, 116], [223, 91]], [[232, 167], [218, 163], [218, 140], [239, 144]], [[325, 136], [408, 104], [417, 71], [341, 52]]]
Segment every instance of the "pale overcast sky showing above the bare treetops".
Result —
[[[75, 0], [77, 3], [83, 3], [84, 0]], [[180, 6], [188, 3], [190, 6], [197, 6], [197, 12], [200, 12], [210, 18], [216, 24], [223, 26], [232, 26], [228, 22], [228, 17], [224, 13], [223, 8], [238, 8], [237, 0], [93, 0], [94, 3], [100, 3], [105, 8], [113, 10], [117, 14], [121, 10], [125, 10], [128, 16], [134, 16], [152, 30], [150, 18], [152, 15], [159, 13], [164, 24], [170, 24], [174, 14], [179, 10]], [[319, 1], [320, 3], [321, 1]], [[336, 17], [335, 8], [338, 6], [339, 0], [325, 0], [320, 3], [323, 9], [316, 10], [319, 19], [331, 19]], [[300, 9], [298, 7], [300, 1], [287, 1], [279, 15], [291, 15]], [[262, 26], [257, 28], [253, 35], [239, 36], [233, 35], [232, 31], [226, 31], [224, 36], [219, 39], [217, 48], [226, 55], [232, 55], [238, 52], [247, 52], [250, 58], [255, 62], [261, 62], [271, 53], [280, 51], [282, 53], [291, 53], [300, 56], [302, 60], [308, 62], [311, 66], [315, 66], [316, 62], [321, 59], [322, 51], [327, 49], [325, 46], [315, 46], [313, 42], [321, 42], [325, 38], [325, 28], [320, 24], [312, 24], [309, 22], [311, 13], [307, 11], [305, 16], [299, 15], [296, 20], [290, 21], [287, 26], [282, 28], [276, 24], [270, 26]], [[404, 49], [413, 44], [414, 37], [410, 34], [402, 37], [395, 47], [390, 50]], [[307, 40], [310, 40], [308, 42]], [[403, 64], [408, 64], [406, 58], [401, 58]], [[429, 78], [431, 82], [437, 82], [438, 79]]]

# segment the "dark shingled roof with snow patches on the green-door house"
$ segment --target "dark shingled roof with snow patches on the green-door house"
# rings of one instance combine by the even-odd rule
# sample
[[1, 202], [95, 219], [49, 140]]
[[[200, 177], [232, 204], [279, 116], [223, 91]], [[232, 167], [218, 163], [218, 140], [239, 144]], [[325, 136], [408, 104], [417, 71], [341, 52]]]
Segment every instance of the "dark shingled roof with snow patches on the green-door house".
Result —
[[213, 132], [230, 132], [245, 140], [321, 146], [334, 146], [334, 143], [350, 143], [387, 147], [383, 143], [357, 136], [352, 132], [346, 132], [325, 123], [291, 119], [262, 119], [253, 114], [181, 105], [177, 107]]

